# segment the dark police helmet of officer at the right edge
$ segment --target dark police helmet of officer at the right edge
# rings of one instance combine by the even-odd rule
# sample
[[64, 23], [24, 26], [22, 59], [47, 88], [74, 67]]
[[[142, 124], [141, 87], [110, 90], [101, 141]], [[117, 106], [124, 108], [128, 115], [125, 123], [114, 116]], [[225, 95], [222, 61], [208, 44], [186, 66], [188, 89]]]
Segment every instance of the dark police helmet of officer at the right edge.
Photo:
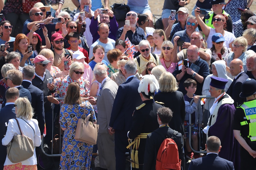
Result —
[[256, 80], [254, 79], [246, 79], [242, 84], [242, 92], [240, 93], [240, 97], [249, 97], [256, 93]]

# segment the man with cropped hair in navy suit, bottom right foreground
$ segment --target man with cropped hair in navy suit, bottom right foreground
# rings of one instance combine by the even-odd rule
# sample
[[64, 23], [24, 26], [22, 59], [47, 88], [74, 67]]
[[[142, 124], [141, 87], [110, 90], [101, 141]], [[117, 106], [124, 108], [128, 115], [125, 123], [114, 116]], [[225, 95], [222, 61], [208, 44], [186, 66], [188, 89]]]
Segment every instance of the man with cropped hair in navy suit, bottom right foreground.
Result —
[[206, 141], [205, 149], [207, 151], [206, 157], [192, 160], [189, 170], [234, 170], [233, 162], [218, 156], [221, 149], [220, 139], [218, 137], [210, 136]]

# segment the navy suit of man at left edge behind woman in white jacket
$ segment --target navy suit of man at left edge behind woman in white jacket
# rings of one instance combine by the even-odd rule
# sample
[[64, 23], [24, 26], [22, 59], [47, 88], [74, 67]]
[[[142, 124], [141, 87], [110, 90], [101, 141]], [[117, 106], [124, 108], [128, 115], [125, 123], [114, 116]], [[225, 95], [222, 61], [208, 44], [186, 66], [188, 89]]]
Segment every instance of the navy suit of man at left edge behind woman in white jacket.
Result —
[[[15, 107], [14, 104], [8, 104], [7, 106], [3, 107], [2, 109], [0, 109], [0, 139], [2, 141], [2, 139], [4, 138], [4, 135], [6, 133], [5, 130], [5, 122], [8, 123], [9, 119], [13, 119], [16, 118], [16, 114], [15, 114]], [[7, 150], [6, 150], [6, 146], [4, 145], [0, 145], [0, 169], [4, 169], [4, 163], [5, 163], [5, 158], [7, 155]]]

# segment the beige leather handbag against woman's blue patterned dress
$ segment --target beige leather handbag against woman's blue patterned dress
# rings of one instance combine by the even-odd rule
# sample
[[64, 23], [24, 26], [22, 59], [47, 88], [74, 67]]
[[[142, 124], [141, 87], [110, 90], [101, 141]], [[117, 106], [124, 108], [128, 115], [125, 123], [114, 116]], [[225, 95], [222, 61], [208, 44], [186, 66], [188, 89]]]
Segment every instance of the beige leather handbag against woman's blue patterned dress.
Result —
[[[86, 104], [84, 105], [86, 107]], [[85, 110], [85, 108], [84, 108]], [[85, 112], [83, 113], [85, 116]], [[89, 114], [86, 119], [78, 119], [76, 126], [76, 134], [74, 139], [85, 142], [90, 145], [96, 145], [98, 138], [99, 125], [89, 121], [89, 118], [93, 118], [92, 114]]]

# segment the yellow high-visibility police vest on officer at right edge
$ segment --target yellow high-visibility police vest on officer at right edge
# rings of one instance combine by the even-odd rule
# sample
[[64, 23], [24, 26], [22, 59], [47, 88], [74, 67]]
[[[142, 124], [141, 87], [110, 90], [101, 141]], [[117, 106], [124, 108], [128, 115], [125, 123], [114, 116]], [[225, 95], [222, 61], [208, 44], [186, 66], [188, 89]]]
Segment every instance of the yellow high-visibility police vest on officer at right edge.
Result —
[[251, 141], [256, 141], [256, 100], [245, 102], [241, 106], [247, 120], [240, 122], [241, 126], [249, 124], [249, 136]]

